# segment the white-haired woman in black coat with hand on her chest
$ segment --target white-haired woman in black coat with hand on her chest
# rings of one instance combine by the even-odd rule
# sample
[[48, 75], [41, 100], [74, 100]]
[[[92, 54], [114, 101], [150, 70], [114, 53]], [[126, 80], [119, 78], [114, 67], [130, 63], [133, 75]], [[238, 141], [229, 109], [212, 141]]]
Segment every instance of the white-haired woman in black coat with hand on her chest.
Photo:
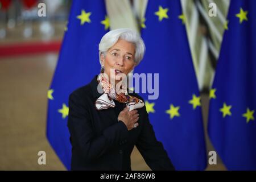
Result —
[[127, 93], [123, 76], [139, 64], [144, 49], [141, 37], [127, 28], [102, 37], [101, 73], [69, 97], [72, 170], [131, 170], [135, 145], [152, 170], [174, 169], [142, 97]]

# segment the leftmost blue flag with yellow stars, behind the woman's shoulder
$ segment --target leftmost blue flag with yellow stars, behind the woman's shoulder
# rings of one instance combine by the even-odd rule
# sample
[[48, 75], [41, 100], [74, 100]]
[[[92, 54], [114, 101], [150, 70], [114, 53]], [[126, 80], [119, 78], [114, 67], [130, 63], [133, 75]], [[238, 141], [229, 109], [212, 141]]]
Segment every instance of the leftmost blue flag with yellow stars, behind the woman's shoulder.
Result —
[[68, 98], [100, 73], [98, 43], [109, 28], [103, 0], [73, 1], [59, 61], [48, 91], [47, 138], [67, 169], [71, 143], [67, 127]]

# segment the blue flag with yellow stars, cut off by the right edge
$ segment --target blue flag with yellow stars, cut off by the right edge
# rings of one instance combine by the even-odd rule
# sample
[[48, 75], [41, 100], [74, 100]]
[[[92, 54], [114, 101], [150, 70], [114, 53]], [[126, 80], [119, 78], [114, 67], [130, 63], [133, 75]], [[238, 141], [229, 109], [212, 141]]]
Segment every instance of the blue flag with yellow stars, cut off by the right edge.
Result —
[[209, 137], [229, 170], [256, 170], [256, 1], [232, 0], [210, 90]]

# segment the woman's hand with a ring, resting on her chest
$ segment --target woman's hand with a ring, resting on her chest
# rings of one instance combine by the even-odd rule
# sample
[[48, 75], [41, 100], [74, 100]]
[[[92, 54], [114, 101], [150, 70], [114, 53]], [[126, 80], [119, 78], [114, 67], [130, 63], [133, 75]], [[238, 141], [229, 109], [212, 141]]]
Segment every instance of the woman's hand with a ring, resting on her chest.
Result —
[[125, 107], [125, 109], [123, 109], [119, 113], [117, 119], [118, 121], [122, 121], [123, 123], [125, 123], [129, 131], [139, 125], [139, 123], [137, 123], [139, 119], [138, 111], [137, 110], [129, 111], [129, 107]]

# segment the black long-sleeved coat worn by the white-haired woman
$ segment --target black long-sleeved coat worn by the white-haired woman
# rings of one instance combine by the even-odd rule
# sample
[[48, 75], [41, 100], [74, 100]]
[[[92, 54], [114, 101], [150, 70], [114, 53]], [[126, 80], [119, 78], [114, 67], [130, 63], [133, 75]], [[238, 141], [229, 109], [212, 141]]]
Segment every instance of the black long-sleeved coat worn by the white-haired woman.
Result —
[[[131, 170], [130, 155], [136, 145], [152, 170], [172, 170], [174, 167], [162, 143], [155, 138], [148, 121], [146, 107], [137, 109], [139, 126], [130, 131], [117, 121], [125, 104], [115, 101], [115, 107], [97, 110], [95, 101], [97, 76], [90, 84], [69, 96], [68, 128], [72, 144], [72, 170]], [[143, 100], [138, 94], [131, 93]]]

